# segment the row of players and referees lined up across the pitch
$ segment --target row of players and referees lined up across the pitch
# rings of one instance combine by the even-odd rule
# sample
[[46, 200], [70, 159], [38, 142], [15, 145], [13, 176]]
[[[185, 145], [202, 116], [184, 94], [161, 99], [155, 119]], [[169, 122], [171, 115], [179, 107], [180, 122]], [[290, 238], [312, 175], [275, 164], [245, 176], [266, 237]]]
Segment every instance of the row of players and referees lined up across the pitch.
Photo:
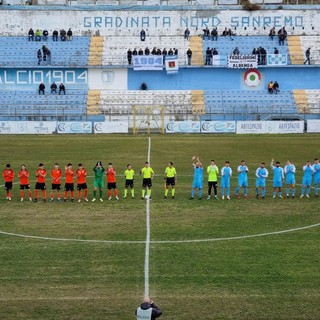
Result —
[[[192, 192], [190, 199], [194, 199], [196, 192], [198, 192], [199, 199], [202, 199], [203, 195], [203, 165], [199, 157], [192, 158], [192, 165], [194, 168], [193, 183], [192, 183]], [[273, 198], [278, 194], [282, 198], [282, 185], [283, 182], [286, 185], [285, 192], [286, 197], [294, 198], [296, 195], [296, 167], [289, 160], [287, 161], [284, 167], [280, 166], [280, 162], [272, 159], [271, 170], [273, 171]], [[108, 163], [107, 168], [105, 169], [101, 161], [98, 161], [93, 168], [94, 171], [94, 182], [93, 182], [93, 198], [92, 202], [96, 201], [97, 196], [99, 200], [103, 202], [103, 192], [105, 188], [105, 177], [107, 180], [107, 194], [108, 200], [111, 200], [112, 197], [116, 200], [119, 200], [118, 189], [116, 184], [116, 170], [113, 167], [112, 163]], [[215, 164], [214, 160], [210, 161], [210, 165], [206, 170], [208, 174], [208, 194], [207, 199], [211, 198], [212, 189], [214, 191], [214, 197], [218, 197], [218, 177], [220, 175], [221, 182], [221, 198], [230, 200], [230, 179], [232, 177], [233, 171], [230, 167], [229, 161], [225, 162], [223, 168], [219, 171], [218, 166]], [[243, 188], [244, 197], [248, 197], [248, 172], [249, 169], [244, 160], [240, 162], [240, 165], [237, 167], [238, 183], [235, 191], [235, 196], [240, 197], [240, 189]], [[148, 162], [145, 162], [144, 167], [140, 170], [140, 175], [142, 175], [142, 199], [151, 199], [152, 192], [152, 180], [155, 177], [154, 170], [150, 167]], [[6, 165], [5, 170], [2, 173], [3, 179], [5, 181], [5, 190], [6, 190], [6, 199], [12, 199], [12, 186], [14, 180], [14, 172], [10, 164]], [[124, 172], [125, 176], [125, 189], [123, 198], [126, 198], [128, 191], [130, 189], [131, 197], [135, 197], [134, 191], [134, 176], [135, 171], [133, 170], [131, 164], [127, 165], [127, 169]], [[266, 164], [262, 162], [260, 166], [255, 171], [255, 191], [256, 197], [265, 198], [266, 196], [266, 179], [269, 176], [269, 171], [266, 168]], [[43, 201], [46, 202], [47, 191], [46, 191], [46, 180], [47, 178], [51, 179], [51, 191], [50, 191], [50, 201], [53, 201], [55, 196], [58, 201], [67, 201], [67, 198], [70, 194], [70, 200], [74, 201], [75, 198], [75, 178], [76, 178], [76, 190], [77, 190], [77, 201], [81, 202], [88, 200], [88, 187], [87, 187], [87, 170], [83, 167], [81, 163], [78, 164], [77, 170], [75, 170], [71, 163], [68, 163], [64, 167], [64, 173], [60, 169], [58, 163], [55, 163], [53, 169], [49, 172], [44, 168], [44, 164], [40, 163], [38, 169], [36, 170], [36, 184], [34, 197], [32, 197], [32, 192], [30, 189], [30, 173], [27, 170], [26, 166], [21, 165], [21, 170], [18, 173], [19, 183], [20, 183], [20, 201], [24, 200], [24, 193], [27, 191], [27, 195], [30, 201], [38, 201], [39, 191], [42, 192]], [[65, 179], [64, 191], [61, 192], [62, 179]], [[172, 162], [169, 162], [165, 172], [165, 191], [164, 199], [168, 198], [169, 190], [171, 189], [171, 197], [175, 198], [175, 185], [177, 182], [177, 171], [173, 166]], [[310, 197], [310, 187], [312, 185], [312, 180], [314, 180], [314, 190], [315, 196], [318, 197], [318, 190], [320, 184], [320, 164], [319, 160], [316, 158], [314, 163], [311, 164], [310, 161], [303, 166], [303, 178], [302, 178], [302, 188], [300, 197], [306, 196]]]

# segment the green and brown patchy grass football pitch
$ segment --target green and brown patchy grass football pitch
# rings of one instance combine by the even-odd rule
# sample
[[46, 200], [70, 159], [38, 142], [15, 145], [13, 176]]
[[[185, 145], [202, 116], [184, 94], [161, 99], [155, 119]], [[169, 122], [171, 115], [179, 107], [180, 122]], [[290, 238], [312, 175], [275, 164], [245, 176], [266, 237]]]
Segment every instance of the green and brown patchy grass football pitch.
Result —
[[[162, 319], [319, 319], [320, 226], [241, 238], [319, 224], [319, 198], [272, 199], [271, 181], [266, 199], [254, 197], [254, 172], [261, 161], [269, 168], [272, 157], [282, 165], [287, 159], [296, 165], [299, 194], [302, 166], [320, 157], [319, 138], [151, 137], [157, 176], [150, 201], [150, 295], [163, 309]], [[58, 161], [61, 166], [82, 162], [91, 176], [96, 161], [111, 161], [122, 196], [126, 164], [131, 162], [136, 172], [143, 167], [148, 137], [1, 136], [0, 146], [0, 166], [11, 163], [16, 175], [22, 163], [34, 175], [39, 162], [50, 170]], [[205, 167], [210, 159], [219, 168], [230, 161], [232, 194], [236, 167], [245, 159], [249, 199], [190, 201], [194, 154]], [[178, 185], [176, 199], [164, 201], [162, 173], [168, 161], [177, 168]], [[88, 185], [92, 198], [92, 177]], [[47, 186], [50, 190], [50, 181]], [[134, 319], [144, 293], [145, 244], [137, 241], [146, 237], [139, 175], [135, 186], [136, 199], [105, 198], [103, 203], [20, 203], [17, 185], [8, 202], [2, 189], [0, 318]], [[226, 239], [230, 237], [239, 238]], [[200, 241], [204, 239], [213, 240]]]

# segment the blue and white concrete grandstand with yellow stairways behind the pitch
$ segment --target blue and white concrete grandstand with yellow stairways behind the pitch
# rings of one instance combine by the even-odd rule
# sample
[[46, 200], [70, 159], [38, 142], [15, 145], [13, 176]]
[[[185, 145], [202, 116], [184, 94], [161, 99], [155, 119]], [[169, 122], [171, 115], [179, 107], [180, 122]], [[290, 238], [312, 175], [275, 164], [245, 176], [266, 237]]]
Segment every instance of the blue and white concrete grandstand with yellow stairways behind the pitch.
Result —
[[[222, 16], [196, 3], [187, 8], [169, 4], [165, 8], [161, 6], [160, 11], [147, 6], [117, 7], [116, 3], [112, 7], [83, 5], [62, 11], [55, 7], [38, 11], [39, 8], [10, 6], [0, 10], [2, 21], [8, 21], [2, 23], [4, 32], [0, 42], [0, 119], [3, 121], [123, 120], [136, 106], [163, 107], [167, 119], [182, 120], [319, 117], [320, 87], [314, 81], [320, 66], [318, 11], [303, 13], [301, 20], [302, 13], [297, 13], [296, 8], [278, 14], [278, 18], [270, 7], [249, 15], [228, 10]], [[207, 11], [207, 18], [200, 17], [203, 10]], [[27, 14], [29, 22], [18, 26], [10, 15], [12, 12], [17, 19]], [[47, 28], [50, 35], [53, 29], [59, 29], [60, 24], [51, 18], [55, 12], [61, 13], [65, 29], [70, 26], [74, 30], [73, 40], [52, 41], [49, 36], [47, 41], [28, 41], [26, 34], [30, 26]], [[268, 36], [276, 19], [286, 24], [288, 32], [281, 46], [277, 36], [273, 40]], [[277, 30], [282, 26], [279, 21]], [[204, 26], [214, 23], [218, 23], [218, 41], [203, 39]], [[232, 27], [233, 37], [221, 36], [225, 25]], [[189, 39], [183, 36], [186, 26], [191, 32]], [[147, 30], [145, 41], [140, 40], [140, 27]], [[51, 63], [38, 65], [36, 53], [43, 45], [51, 50]], [[137, 71], [135, 66], [128, 65], [127, 50], [146, 47], [150, 51], [154, 47], [178, 49], [176, 73], [169, 74], [165, 68], [155, 71], [151, 65], [150, 69]], [[216, 48], [219, 53], [213, 65], [205, 65], [208, 47]], [[259, 78], [256, 83], [248, 84], [246, 69], [228, 65], [228, 57], [235, 47], [241, 56], [251, 55], [257, 47], [266, 50], [267, 64], [253, 68]], [[274, 55], [275, 47], [278, 56]], [[311, 65], [305, 66], [305, 51], [309, 47]], [[186, 59], [189, 48], [193, 52], [191, 65], [187, 65]], [[280, 83], [279, 94], [268, 94], [270, 80]], [[42, 81], [46, 94], [39, 96], [37, 89]], [[50, 94], [52, 81], [65, 83], [66, 96]], [[139, 91], [142, 82], [148, 84], [149, 90]]]

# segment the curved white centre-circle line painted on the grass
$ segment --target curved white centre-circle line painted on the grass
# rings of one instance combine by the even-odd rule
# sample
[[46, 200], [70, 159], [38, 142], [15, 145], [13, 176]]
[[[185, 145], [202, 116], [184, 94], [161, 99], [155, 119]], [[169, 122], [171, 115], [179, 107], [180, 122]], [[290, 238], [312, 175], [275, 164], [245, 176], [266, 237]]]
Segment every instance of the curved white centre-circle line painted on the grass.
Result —
[[[320, 227], [320, 222], [316, 224], [310, 224], [304, 227], [297, 227], [292, 229], [265, 232], [258, 234], [250, 234], [244, 236], [234, 236], [234, 237], [223, 237], [223, 238], [208, 238], [208, 239], [190, 239], [190, 240], [150, 240], [149, 244], [183, 244], [183, 243], [203, 243], [203, 242], [215, 242], [215, 241], [229, 241], [229, 240], [242, 240], [250, 238], [259, 238], [272, 236], [277, 234], [290, 233], [300, 230], [307, 230], [311, 228]], [[19, 238], [29, 238], [37, 240], [48, 240], [48, 241], [62, 241], [62, 242], [85, 242], [85, 243], [104, 243], [104, 244], [146, 244], [144, 240], [94, 240], [94, 239], [68, 239], [68, 238], [52, 238], [52, 237], [41, 237], [41, 236], [32, 236], [27, 234], [19, 234], [12, 232], [0, 231], [0, 234], [5, 236], [19, 237]]]

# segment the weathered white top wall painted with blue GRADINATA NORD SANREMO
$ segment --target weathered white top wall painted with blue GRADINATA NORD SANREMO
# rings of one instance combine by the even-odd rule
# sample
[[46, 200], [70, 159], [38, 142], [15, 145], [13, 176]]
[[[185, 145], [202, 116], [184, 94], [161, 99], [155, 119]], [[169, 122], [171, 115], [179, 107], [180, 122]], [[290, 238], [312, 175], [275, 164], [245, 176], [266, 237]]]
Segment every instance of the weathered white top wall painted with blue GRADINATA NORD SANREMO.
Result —
[[[311, 9], [312, 7], [310, 7]], [[213, 10], [212, 8], [174, 9], [164, 7], [127, 8], [104, 7], [97, 10], [61, 10], [48, 7], [1, 6], [0, 33], [2, 35], [26, 35], [32, 28], [48, 30], [71, 27], [76, 34], [98, 31], [101, 35], [137, 34], [145, 28], [148, 34], [183, 34], [188, 27], [191, 34], [200, 34], [202, 29], [217, 27], [232, 28], [238, 35], [268, 34], [273, 26], [286, 27], [288, 34], [318, 34], [320, 30], [320, 10]]]

